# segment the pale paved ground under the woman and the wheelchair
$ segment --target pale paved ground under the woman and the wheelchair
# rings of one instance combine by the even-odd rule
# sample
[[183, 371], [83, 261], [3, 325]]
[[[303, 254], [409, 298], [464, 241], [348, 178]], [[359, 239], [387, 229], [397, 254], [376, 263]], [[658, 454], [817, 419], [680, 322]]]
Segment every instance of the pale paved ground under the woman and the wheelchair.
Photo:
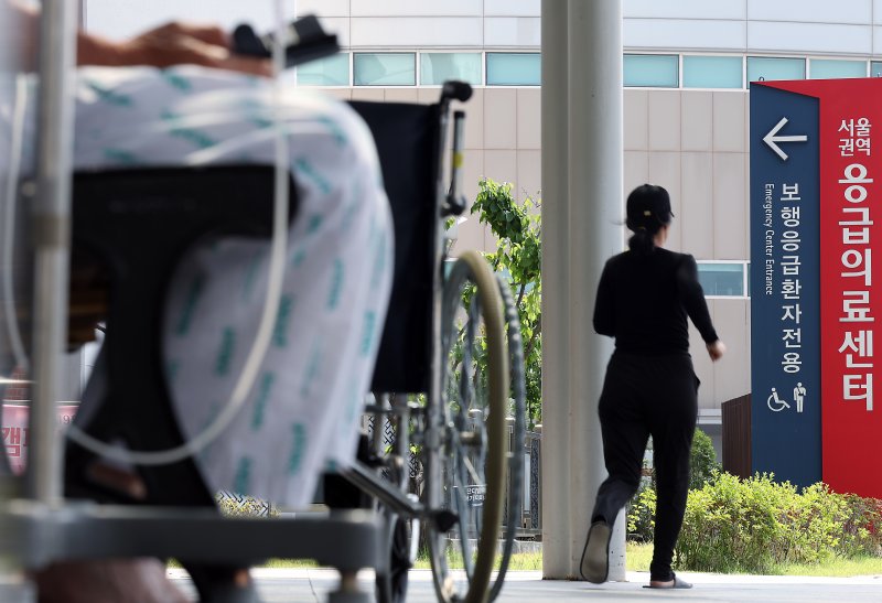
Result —
[[[184, 590], [190, 590], [186, 574], [170, 570], [170, 575]], [[732, 603], [882, 603], [882, 575], [859, 578], [805, 578], [721, 575], [681, 573], [695, 583], [688, 591], [657, 591], [642, 588], [648, 584], [649, 574], [628, 572], [627, 582], [602, 585], [587, 582], [546, 581], [540, 572], [510, 572], [498, 601], [512, 603], [555, 603], [587, 601], [713, 601]], [[335, 588], [336, 573], [332, 570], [255, 570], [263, 601], [324, 602], [325, 594]], [[372, 589], [372, 577], [364, 574], [364, 588]], [[434, 603], [431, 573], [428, 570], [410, 572], [408, 602]]]

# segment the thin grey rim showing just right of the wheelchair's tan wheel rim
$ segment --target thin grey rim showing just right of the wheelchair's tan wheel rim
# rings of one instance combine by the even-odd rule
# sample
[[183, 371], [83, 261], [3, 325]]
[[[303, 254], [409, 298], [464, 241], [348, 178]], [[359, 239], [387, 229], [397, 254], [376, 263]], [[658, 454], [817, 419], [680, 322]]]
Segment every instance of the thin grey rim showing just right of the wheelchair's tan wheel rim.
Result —
[[508, 344], [508, 366], [512, 372], [510, 392], [508, 400], [512, 418], [508, 420], [508, 492], [503, 507], [503, 535], [502, 556], [498, 562], [499, 571], [493, 581], [487, 601], [495, 601], [502, 592], [508, 562], [515, 545], [515, 537], [520, 527], [520, 514], [524, 506], [524, 438], [527, 431], [526, 421], [526, 385], [524, 377], [524, 342], [520, 337], [520, 320], [517, 306], [512, 295], [508, 283], [497, 274], [499, 293], [505, 309], [505, 325]]

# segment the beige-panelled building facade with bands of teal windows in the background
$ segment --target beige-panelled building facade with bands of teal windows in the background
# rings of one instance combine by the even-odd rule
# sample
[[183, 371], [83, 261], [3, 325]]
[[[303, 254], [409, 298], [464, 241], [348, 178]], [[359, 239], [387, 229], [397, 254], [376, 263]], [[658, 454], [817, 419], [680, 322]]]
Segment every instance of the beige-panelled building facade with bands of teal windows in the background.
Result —
[[[130, 33], [122, 31], [129, 21], [132, 31], [147, 24], [130, 10], [136, 3], [88, 0], [85, 23], [108, 35]], [[258, 4], [247, 17], [268, 28], [272, 3]], [[300, 86], [344, 99], [430, 103], [444, 79], [467, 80], [475, 94], [467, 104], [466, 193], [473, 197], [486, 176], [512, 182], [520, 198], [541, 197], [540, 0], [288, 4], [320, 15], [343, 46], [301, 67]], [[151, 17], [234, 19], [218, 7], [162, 0], [151, 3]], [[882, 0], [624, 0], [623, 12], [624, 191], [644, 182], [667, 187], [677, 216], [669, 247], [699, 261], [729, 346], [718, 364], [693, 354], [699, 423], [719, 450], [722, 402], [750, 392], [749, 83], [882, 74]], [[235, 19], [248, 20], [241, 17]], [[111, 22], [115, 30], [103, 31]], [[454, 250], [494, 247], [475, 218], [458, 236]], [[701, 351], [695, 331], [692, 346]]]

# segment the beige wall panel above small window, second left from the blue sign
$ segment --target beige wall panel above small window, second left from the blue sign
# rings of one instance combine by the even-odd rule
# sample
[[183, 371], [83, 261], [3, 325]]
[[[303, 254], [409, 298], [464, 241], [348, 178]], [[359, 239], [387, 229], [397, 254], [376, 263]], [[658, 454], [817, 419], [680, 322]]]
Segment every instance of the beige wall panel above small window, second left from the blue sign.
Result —
[[[682, 229], [684, 251], [697, 259], [713, 258], [713, 155], [682, 153], [681, 203], [677, 217]], [[676, 209], [675, 209], [676, 212]]]

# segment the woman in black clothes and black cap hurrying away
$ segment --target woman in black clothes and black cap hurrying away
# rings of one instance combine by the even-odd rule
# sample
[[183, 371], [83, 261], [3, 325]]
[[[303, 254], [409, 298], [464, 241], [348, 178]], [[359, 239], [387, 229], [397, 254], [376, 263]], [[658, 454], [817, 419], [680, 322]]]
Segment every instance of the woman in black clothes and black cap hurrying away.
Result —
[[649, 588], [691, 588], [670, 567], [686, 512], [698, 414], [687, 316], [712, 360], [725, 346], [713, 329], [695, 258], [664, 249], [673, 217], [665, 189], [635, 189], [627, 197], [630, 249], [606, 262], [598, 289], [594, 330], [615, 338], [615, 352], [599, 405], [609, 477], [598, 491], [580, 568], [594, 583], [607, 579], [612, 526], [637, 491], [652, 435], [657, 506]]

